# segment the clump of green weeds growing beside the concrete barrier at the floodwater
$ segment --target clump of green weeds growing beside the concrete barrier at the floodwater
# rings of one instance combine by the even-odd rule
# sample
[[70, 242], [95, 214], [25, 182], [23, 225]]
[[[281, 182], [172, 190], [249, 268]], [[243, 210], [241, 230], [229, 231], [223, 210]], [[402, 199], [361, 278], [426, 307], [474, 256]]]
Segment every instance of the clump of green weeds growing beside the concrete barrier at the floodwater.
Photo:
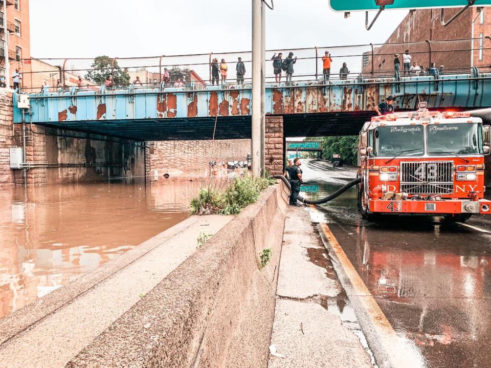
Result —
[[274, 184], [271, 178], [235, 178], [224, 190], [202, 188], [191, 199], [192, 214], [237, 214], [245, 206], [258, 200], [261, 190]]

